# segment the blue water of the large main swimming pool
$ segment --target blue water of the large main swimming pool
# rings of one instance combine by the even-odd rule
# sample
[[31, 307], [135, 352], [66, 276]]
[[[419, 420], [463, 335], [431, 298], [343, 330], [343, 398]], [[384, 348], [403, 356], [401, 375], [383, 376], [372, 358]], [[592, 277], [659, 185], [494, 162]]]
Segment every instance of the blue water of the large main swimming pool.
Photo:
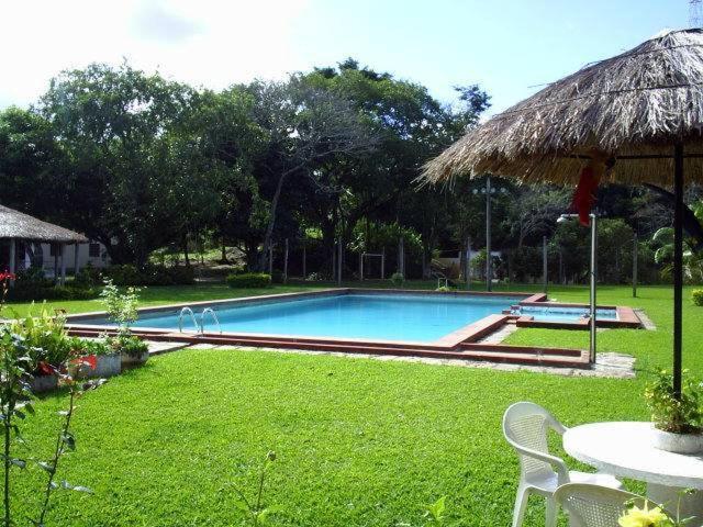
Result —
[[[223, 332], [429, 343], [488, 315], [500, 314], [520, 300], [500, 295], [344, 294], [220, 304], [213, 309]], [[196, 316], [202, 309], [194, 310]], [[144, 314], [134, 326], [177, 329], [178, 313]], [[192, 322], [185, 319], [183, 329], [192, 330]], [[205, 330], [215, 330], [209, 317]]]

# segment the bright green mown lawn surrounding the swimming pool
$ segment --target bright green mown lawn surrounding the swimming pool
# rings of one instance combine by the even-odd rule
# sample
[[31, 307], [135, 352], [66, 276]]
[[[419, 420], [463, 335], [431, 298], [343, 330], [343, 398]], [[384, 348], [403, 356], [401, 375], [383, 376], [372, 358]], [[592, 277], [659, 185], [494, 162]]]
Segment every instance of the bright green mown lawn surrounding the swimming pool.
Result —
[[[153, 288], [147, 302], [203, 298], [198, 288], [177, 292], [169, 298], [166, 289]], [[213, 285], [208, 294], [233, 291]], [[587, 294], [584, 288], [550, 293], [565, 301], [584, 301]], [[701, 373], [703, 309], [689, 298], [687, 291], [684, 365]], [[640, 368], [669, 367], [670, 289], [643, 288], [632, 299], [627, 288], [602, 287], [600, 301], [643, 307], [658, 326], [603, 332], [601, 349], [634, 354]], [[585, 346], [587, 333], [521, 329], [510, 340]], [[276, 525], [421, 526], [424, 506], [442, 495], [448, 496], [447, 525], [510, 525], [518, 470], [500, 430], [504, 408], [535, 401], [567, 425], [646, 419], [645, 378], [565, 378], [270, 351], [174, 352], [80, 401], [78, 450], [66, 459], [62, 478], [94, 495], [57, 494], [48, 525], [242, 525], [232, 485], [250, 494], [255, 467], [269, 449], [278, 459], [265, 501], [281, 509]], [[55, 411], [64, 404], [60, 395], [47, 396], [24, 424], [33, 451], [51, 450]], [[36, 502], [27, 489], [41, 475], [34, 468], [21, 476], [15, 503], [23, 511]], [[526, 525], [544, 525], [542, 513], [535, 501]]]

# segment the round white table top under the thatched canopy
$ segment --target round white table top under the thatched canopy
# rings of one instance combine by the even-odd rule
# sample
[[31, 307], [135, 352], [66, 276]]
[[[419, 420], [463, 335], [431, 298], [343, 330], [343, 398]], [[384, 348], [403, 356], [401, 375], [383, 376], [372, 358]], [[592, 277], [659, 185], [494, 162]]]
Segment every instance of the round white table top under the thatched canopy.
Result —
[[563, 434], [563, 449], [613, 475], [703, 490], [703, 455], [659, 450], [651, 445], [651, 423], [593, 423], [569, 428]]

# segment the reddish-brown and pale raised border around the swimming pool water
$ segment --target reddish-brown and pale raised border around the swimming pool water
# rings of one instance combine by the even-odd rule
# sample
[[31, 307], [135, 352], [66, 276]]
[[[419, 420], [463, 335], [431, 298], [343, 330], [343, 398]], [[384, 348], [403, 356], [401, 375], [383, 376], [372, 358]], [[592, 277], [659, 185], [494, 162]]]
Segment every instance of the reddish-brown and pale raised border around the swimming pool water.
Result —
[[[427, 290], [389, 290], [389, 289], [362, 289], [339, 288], [299, 293], [279, 293], [264, 296], [246, 296], [242, 299], [189, 302], [169, 304], [155, 307], [144, 307], [140, 313], [174, 312], [182, 307], [219, 306], [219, 305], [246, 305], [279, 302], [282, 300], [304, 299], [314, 296], [343, 295], [343, 294], [422, 294], [433, 296], [510, 296], [523, 300], [520, 305], [544, 306], [547, 304], [547, 295], [544, 293], [488, 293], [472, 291], [451, 291], [437, 293]], [[587, 307], [584, 304], [548, 303], [550, 306]], [[617, 310], [617, 319], [598, 321], [603, 327], [640, 327], [637, 314], [629, 307], [599, 306], [599, 309]], [[116, 333], [115, 326], [90, 324], [90, 318], [102, 318], [104, 312], [70, 315], [67, 317], [67, 329], [71, 335], [94, 337], [100, 334]], [[75, 322], [72, 322], [75, 321]], [[518, 327], [551, 327], [560, 329], [585, 329], [589, 318], [576, 323], [535, 321], [531, 316], [517, 316], [510, 313], [494, 314], [483, 317], [472, 324], [461, 327], [432, 343], [417, 343], [405, 340], [381, 340], [362, 338], [335, 338], [335, 337], [302, 337], [295, 335], [266, 335], [266, 334], [237, 334], [205, 332], [175, 332], [174, 329], [138, 327], [132, 332], [143, 338], [155, 341], [182, 343], [186, 345], [202, 344], [212, 346], [245, 346], [254, 348], [275, 349], [308, 349], [311, 351], [338, 351], [346, 354], [386, 355], [395, 357], [424, 357], [434, 359], [492, 361], [503, 363], [518, 363], [555, 368], [591, 368], [587, 350], [569, 348], [548, 348], [528, 346], [509, 346], [504, 344], [480, 343], [486, 336], [501, 329], [506, 324], [515, 324]]]

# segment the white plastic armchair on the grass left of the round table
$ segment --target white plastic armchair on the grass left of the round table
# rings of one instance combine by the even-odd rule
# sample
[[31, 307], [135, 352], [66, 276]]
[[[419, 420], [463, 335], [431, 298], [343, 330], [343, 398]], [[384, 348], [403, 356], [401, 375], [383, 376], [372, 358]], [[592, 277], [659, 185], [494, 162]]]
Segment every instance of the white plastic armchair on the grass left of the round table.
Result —
[[551, 428], [560, 435], [567, 428], [545, 408], [535, 403], [515, 403], [503, 415], [503, 434], [520, 458], [520, 484], [513, 511], [513, 527], [520, 527], [525, 517], [531, 493], [547, 501], [546, 527], [557, 524], [557, 503], [554, 492], [566, 483], [593, 483], [620, 489], [622, 485], [609, 474], [591, 474], [569, 470], [562, 459], [551, 456], [547, 445], [547, 431]]

